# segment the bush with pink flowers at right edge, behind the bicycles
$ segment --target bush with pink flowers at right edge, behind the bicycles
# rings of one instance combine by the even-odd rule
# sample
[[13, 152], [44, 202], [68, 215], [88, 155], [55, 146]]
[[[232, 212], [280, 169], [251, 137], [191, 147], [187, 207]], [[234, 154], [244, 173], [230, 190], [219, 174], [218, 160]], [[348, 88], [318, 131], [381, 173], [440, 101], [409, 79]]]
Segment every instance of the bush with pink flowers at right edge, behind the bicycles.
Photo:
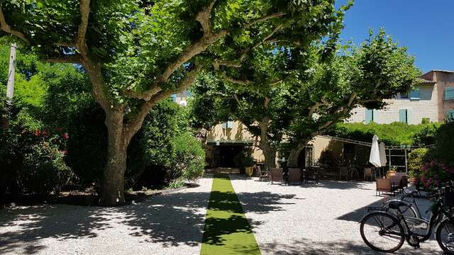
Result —
[[432, 160], [424, 164], [419, 178], [426, 188], [435, 188], [444, 181], [453, 179], [453, 177], [454, 168]]

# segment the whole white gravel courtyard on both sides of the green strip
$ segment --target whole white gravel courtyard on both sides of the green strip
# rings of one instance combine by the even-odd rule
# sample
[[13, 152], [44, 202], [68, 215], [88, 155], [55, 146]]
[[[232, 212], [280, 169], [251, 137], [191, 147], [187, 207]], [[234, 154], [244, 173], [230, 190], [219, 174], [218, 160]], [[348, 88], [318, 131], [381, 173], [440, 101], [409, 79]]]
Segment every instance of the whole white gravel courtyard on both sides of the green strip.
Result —
[[[358, 220], [375, 183], [280, 186], [231, 175], [262, 254], [377, 254]], [[199, 254], [211, 178], [121, 208], [41, 205], [0, 211], [0, 254]], [[423, 208], [425, 211], [425, 208]], [[435, 241], [397, 254], [441, 254]]]

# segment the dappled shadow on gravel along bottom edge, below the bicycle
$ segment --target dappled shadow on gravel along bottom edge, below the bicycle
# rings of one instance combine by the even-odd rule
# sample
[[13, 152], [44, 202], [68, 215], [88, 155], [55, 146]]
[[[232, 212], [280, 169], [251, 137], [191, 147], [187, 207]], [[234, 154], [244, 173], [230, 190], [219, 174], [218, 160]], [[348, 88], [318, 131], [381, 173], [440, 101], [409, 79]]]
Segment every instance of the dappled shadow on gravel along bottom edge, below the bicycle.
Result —
[[[442, 255], [440, 249], [431, 249], [424, 247], [421, 249], [413, 249], [413, 247], [404, 244], [399, 251], [394, 254], [399, 255]], [[282, 243], [267, 243], [260, 244], [262, 254], [275, 255], [377, 255], [382, 254], [377, 251], [372, 251], [366, 244], [359, 242], [336, 241], [336, 242], [314, 242], [310, 239], [288, 240], [285, 244]]]

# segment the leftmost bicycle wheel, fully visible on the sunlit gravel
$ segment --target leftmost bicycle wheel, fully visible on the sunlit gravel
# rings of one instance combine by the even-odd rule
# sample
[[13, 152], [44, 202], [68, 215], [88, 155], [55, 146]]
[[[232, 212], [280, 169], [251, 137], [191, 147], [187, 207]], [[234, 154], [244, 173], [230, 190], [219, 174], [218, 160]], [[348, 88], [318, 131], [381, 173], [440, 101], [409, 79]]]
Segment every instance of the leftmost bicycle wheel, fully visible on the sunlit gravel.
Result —
[[394, 252], [405, 241], [402, 224], [386, 212], [372, 212], [361, 220], [362, 240], [374, 251]]

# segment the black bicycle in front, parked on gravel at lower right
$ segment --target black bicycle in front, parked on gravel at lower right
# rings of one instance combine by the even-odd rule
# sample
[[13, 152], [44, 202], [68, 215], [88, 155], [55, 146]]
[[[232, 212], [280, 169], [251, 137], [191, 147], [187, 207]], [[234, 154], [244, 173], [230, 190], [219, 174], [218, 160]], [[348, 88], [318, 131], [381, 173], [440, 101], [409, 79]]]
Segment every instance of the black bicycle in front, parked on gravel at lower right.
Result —
[[[396, 210], [394, 215], [387, 208], [367, 208], [367, 215], [360, 220], [360, 234], [362, 240], [374, 251], [394, 252], [399, 250], [406, 241], [415, 249], [421, 242], [427, 241], [433, 232], [436, 234], [438, 245], [443, 251], [454, 251], [454, 215], [445, 203], [444, 188], [437, 191], [430, 198], [435, 198], [431, 206], [431, 216], [428, 220], [414, 218], [421, 225], [426, 225], [426, 233], [415, 233], [402, 215], [400, 208], [402, 201], [389, 202], [389, 208]], [[372, 211], [372, 212], [371, 212]]]

